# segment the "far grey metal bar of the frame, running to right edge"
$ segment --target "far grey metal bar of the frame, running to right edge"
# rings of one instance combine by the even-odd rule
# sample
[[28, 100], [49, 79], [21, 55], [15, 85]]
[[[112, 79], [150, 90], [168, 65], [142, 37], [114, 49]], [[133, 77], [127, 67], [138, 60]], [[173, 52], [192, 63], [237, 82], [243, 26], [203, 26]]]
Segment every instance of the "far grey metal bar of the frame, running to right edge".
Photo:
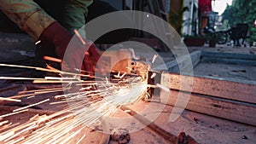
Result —
[[202, 57], [225, 58], [225, 59], [236, 59], [236, 60], [256, 60], [256, 55], [219, 53], [219, 52], [208, 52], [208, 51], [202, 51], [201, 56]]

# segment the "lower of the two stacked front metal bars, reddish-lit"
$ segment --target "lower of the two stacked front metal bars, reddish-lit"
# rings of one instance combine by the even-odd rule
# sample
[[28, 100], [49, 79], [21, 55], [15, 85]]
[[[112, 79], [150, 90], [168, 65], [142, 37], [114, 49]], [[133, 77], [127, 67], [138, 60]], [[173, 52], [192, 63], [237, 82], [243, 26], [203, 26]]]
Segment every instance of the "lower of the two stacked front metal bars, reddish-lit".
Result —
[[[184, 97], [189, 97], [189, 102], [185, 109], [212, 115], [218, 118], [230, 119], [244, 124], [252, 124], [256, 126], [256, 105], [239, 101], [229, 101], [221, 98], [215, 98], [207, 95], [195, 95], [177, 90], [171, 90], [169, 95], [161, 90], [160, 101], [168, 105], [174, 106], [177, 97], [179, 101], [186, 102]], [[176, 106], [179, 107], [179, 106]], [[182, 107], [182, 106], [181, 106]]]

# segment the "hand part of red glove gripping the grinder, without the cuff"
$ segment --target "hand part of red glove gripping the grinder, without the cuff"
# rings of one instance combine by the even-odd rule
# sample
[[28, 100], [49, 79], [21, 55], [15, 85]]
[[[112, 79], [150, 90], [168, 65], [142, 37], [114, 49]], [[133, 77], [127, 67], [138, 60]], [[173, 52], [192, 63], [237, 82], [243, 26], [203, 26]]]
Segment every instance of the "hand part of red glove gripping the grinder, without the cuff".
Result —
[[83, 41], [85, 43], [82, 43], [79, 37], [73, 36], [67, 47], [55, 48], [57, 55], [63, 60], [62, 70], [67, 72], [80, 71], [90, 75], [94, 75], [94, 72], [102, 72], [102, 68], [96, 69], [96, 65], [101, 67], [101, 64], [97, 64], [101, 55], [96, 45], [90, 41]]

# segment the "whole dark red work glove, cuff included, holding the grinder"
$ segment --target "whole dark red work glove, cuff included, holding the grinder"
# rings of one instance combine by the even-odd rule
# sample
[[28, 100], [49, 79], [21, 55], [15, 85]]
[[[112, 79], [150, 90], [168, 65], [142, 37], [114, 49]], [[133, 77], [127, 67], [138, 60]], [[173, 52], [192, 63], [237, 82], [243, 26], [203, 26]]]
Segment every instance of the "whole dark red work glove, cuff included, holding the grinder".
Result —
[[64, 71], [76, 72], [76, 69], [81, 68], [89, 74], [95, 72], [96, 62], [101, 56], [95, 44], [88, 41], [83, 44], [79, 37], [73, 36], [58, 22], [48, 26], [38, 40], [55, 46], [56, 55], [67, 65]]

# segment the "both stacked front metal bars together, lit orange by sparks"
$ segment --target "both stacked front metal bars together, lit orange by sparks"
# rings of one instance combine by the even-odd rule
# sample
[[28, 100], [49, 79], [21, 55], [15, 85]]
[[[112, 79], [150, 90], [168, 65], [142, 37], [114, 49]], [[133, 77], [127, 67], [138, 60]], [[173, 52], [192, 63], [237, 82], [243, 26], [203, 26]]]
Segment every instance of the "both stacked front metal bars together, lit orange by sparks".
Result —
[[[193, 85], [186, 85], [185, 82], [191, 79]], [[253, 81], [163, 73], [161, 83], [170, 89], [169, 94], [165, 90], [160, 91], [162, 103], [175, 106], [177, 99], [187, 102], [183, 99], [186, 97], [189, 101], [185, 109], [256, 126], [256, 83]]]

